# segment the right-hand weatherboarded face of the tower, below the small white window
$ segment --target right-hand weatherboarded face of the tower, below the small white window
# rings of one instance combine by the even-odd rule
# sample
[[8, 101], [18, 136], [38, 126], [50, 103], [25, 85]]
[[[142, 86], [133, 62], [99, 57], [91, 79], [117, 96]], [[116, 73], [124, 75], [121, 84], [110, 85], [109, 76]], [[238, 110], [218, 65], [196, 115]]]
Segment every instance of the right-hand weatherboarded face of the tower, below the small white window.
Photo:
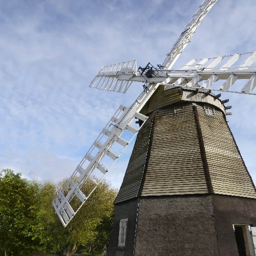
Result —
[[244, 165], [232, 133], [215, 108], [214, 116], [196, 106], [213, 193], [256, 198], [251, 177]]

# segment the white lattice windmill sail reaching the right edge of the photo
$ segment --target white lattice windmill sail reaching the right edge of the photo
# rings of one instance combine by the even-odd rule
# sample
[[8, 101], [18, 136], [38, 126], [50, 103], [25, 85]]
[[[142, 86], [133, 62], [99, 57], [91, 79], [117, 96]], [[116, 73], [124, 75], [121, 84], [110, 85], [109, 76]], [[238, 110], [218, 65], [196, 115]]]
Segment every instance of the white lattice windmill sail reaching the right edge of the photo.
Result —
[[[256, 94], [256, 51], [192, 59], [178, 71], [168, 73], [165, 89], [173, 86], [201, 87], [216, 91]], [[182, 80], [180, 79], [182, 78]], [[179, 80], [179, 81], [178, 81]], [[232, 86], [239, 80], [238, 89]], [[237, 87], [237, 86], [236, 86]]]

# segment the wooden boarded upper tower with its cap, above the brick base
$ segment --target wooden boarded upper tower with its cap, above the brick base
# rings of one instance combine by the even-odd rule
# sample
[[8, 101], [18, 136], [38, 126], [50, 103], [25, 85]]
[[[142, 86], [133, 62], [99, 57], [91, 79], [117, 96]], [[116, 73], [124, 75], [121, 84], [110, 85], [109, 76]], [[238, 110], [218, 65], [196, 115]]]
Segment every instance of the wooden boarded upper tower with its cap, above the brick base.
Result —
[[115, 203], [202, 193], [256, 198], [219, 99], [159, 86], [141, 112], [150, 117], [138, 132]]

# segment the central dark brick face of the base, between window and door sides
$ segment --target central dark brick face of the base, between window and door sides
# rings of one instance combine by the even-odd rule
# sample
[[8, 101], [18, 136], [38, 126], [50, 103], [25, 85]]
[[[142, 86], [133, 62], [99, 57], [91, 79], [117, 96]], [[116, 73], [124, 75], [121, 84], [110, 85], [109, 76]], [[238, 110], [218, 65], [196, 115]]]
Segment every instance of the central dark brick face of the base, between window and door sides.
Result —
[[135, 256], [215, 256], [211, 195], [140, 198]]

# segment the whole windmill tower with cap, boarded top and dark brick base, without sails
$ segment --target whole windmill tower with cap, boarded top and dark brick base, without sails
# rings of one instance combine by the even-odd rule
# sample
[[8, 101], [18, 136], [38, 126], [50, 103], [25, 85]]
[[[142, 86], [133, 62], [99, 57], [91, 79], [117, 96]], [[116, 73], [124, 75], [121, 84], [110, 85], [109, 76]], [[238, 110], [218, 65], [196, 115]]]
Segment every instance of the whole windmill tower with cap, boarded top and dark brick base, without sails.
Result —
[[223, 101], [159, 86], [140, 112], [107, 255], [255, 255], [255, 186]]

